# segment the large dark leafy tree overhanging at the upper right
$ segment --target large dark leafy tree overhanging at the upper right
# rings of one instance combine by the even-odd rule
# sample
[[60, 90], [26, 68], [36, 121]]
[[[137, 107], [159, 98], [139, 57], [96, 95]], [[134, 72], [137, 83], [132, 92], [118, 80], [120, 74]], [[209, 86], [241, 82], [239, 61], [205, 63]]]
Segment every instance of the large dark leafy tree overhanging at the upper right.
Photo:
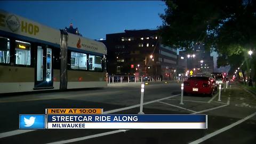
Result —
[[[165, 45], [186, 50], [195, 43], [219, 54], [218, 67], [241, 65], [256, 47], [256, 2], [253, 0], [164, 1], [159, 27]], [[255, 62], [256, 63], [256, 62]]]

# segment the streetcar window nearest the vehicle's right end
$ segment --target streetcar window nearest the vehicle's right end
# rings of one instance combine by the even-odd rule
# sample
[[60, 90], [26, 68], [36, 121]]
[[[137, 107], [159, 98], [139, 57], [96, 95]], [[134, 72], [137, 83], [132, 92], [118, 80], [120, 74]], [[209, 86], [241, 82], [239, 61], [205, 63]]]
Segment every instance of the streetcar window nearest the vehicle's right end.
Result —
[[96, 55], [89, 55], [89, 70], [102, 71], [102, 58]]

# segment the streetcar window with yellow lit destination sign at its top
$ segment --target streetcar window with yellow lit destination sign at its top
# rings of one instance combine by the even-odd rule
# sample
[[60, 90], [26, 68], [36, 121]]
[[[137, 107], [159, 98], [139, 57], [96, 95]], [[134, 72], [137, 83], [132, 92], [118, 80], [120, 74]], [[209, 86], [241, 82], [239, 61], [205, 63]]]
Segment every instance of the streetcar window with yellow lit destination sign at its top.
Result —
[[30, 65], [30, 43], [15, 41], [15, 64]]

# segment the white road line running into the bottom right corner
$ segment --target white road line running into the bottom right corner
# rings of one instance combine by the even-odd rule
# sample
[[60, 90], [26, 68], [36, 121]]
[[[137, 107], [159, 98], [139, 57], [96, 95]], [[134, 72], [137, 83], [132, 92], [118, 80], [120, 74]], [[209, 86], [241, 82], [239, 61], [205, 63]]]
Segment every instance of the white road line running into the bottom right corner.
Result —
[[205, 140], [207, 140], [207, 139], [209, 139], [209, 138], [211, 138], [211, 137], [213, 137], [213, 136], [215, 136], [215, 135], [217, 135], [217, 134], [219, 134], [219, 133], [222, 133], [222, 132], [224, 132], [224, 131], [227, 131], [227, 130], [231, 129], [231, 128], [234, 127], [234, 126], [243, 123], [244, 121], [246, 121], [247, 119], [249, 119], [249, 118], [251, 118], [251, 117], [253, 117], [253, 116], [255, 116], [255, 115], [256, 115], [256, 112], [253, 113], [253, 114], [251, 114], [251, 115], [249, 115], [249, 116], [247, 116], [247, 117], [245, 117], [245, 118], [243, 118], [243, 119], [240, 119], [239, 121], [237, 121], [237, 122], [235, 122], [235, 123], [233, 123], [233, 124], [230, 124], [230, 125], [228, 125], [228, 126], [226, 126], [226, 127], [223, 127], [223, 128], [220, 129], [220, 130], [217, 130], [217, 131], [215, 131], [215, 132], [213, 132], [213, 133], [207, 134], [207, 135], [205, 135], [203, 138], [200, 138], [200, 139], [197, 139], [197, 140], [195, 140], [195, 141], [193, 141], [193, 142], [190, 142], [189, 144], [201, 143], [201, 142], [203, 142], [203, 141], [205, 141]]

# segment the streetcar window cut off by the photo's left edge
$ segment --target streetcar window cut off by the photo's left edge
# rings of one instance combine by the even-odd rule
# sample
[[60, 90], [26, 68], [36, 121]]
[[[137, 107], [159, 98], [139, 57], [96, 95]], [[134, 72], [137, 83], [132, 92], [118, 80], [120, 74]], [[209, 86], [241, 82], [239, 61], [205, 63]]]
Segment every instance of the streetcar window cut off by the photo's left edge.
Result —
[[0, 37], [0, 63], [10, 63], [10, 39]]

